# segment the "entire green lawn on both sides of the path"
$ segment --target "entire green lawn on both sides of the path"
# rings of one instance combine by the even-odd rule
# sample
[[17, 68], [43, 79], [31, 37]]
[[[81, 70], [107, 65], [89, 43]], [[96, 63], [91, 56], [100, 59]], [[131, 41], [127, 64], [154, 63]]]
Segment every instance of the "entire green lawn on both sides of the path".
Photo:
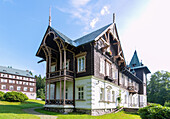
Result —
[[[22, 109], [42, 107], [44, 101], [28, 100], [24, 103], [0, 101], [0, 119], [40, 119], [38, 116], [25, 113]], [[106, 114], [102, 116], [90, 116], [87, 114], [61, 114], [56, 112], [45, 111], [43, 109], [36, 109], [36, 111], [57, 116], [58, 119], [140, 119], [139, 115], [135, 113], [127, 113], [124, 111], [116, 114]]]

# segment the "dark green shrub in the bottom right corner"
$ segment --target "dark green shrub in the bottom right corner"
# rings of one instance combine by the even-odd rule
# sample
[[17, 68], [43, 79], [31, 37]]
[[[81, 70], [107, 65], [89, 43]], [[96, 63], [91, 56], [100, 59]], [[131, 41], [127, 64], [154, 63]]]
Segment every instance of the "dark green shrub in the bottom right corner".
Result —
[[142, 119], [169, 119], [170, 107], [163, 107], [160, 104], [150, 104], [138, 111]]

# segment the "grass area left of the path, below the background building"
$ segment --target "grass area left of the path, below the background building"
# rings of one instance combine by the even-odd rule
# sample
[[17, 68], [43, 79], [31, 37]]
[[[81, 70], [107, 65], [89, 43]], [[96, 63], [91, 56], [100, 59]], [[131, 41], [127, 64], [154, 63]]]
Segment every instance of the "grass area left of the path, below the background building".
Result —
[[28, 100], [24, 103], [0, 101], [0, 119], [40, 119], [38, 116], [27, 114], [22, 109], [42, 107], [44, 101]]

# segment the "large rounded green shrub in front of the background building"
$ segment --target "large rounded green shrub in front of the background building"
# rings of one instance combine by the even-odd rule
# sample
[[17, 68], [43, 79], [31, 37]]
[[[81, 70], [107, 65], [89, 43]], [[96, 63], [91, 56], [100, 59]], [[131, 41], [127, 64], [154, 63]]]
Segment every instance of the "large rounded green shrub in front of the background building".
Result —
[[14, 91], [5, 93], [4, 98], [9, 102], [24, 102], [25, 100], [28, 100], [28, 97], [25, 94]]

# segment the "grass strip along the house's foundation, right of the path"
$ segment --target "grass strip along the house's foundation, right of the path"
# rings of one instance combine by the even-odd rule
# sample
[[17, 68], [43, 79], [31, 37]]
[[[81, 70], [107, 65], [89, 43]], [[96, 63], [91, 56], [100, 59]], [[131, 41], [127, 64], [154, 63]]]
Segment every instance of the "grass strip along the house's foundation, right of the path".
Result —
[[56, 112], [50, 112], [41, 109], [35, 109], [35, 111], [48, 114], [48, 115], [53, 115], [57, 116], [57, 119], [141, 119], [140, 116], [136, 113], [129, 113], [125, 111], [118, 112], [116, 114], [105, 114], [101, 116], [91, 116], [87, 114], [76, 114], [76, 113], [70, 113], [70, 114], [61, 114], [61, 113], [56, 113]]

